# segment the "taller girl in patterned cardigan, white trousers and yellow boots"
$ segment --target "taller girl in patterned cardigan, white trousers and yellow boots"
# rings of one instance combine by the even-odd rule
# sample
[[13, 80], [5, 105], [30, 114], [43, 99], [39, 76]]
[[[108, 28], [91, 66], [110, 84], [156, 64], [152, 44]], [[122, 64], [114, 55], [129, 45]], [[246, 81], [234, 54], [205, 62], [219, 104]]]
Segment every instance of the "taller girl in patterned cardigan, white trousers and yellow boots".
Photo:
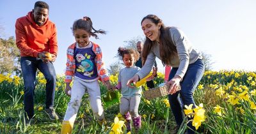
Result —
[[[93, 114], [97, 117], [99, 124], [106, 123], [98, 79], [104, 82], [108, 89], [112, 89], [107, 71], [104, 68], [100, 47], [89, 40], [90, 36], [98, 39], [96, 33], [105, 34], [105, 31], [95, 30], [92, 26], [92, 20], [89, 17], [83, 17], [83, 19], [74, 22], [72, 32], [76, 43], [67, 49], [65, 73], [65, 93], [68, 96], [71, 94], [71, 98], [63, 119], [61, 133], [71, 133], [84, 93], [89, 95]], [[72, 78], [74, 78], [74, 82], [71, 88]]]

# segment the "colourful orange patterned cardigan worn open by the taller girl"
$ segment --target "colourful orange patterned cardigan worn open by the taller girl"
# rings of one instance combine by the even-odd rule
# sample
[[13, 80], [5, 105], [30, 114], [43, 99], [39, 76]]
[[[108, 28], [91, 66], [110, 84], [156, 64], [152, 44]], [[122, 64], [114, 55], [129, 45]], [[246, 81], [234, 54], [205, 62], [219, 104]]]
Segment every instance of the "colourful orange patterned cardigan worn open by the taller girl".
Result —
[[[66, 83], [72, 82], [72, 77], [74, 77], [74, 73], [76, 70], [76, 61], [74, 59], [74, 48], [75, 47], [76, 47], [76, 43], [73, 43], [67, 49], [67, 63], [66, 63], [67, 68], [66, 68], [66, 72], [65, 72], [65, 75], [66, 75], [65, 82]], [[92, 42], [92, 50], [96, 55], [95, 64], [97, 66], [97, 73], [100, 77], [100, 80], [102, 82], [106, 82], [107, 80], [109, 80], [109, 77], [107, 74], [107, 70], [104, 68], [104, 63], [102, 61], [101, 49], [100, 49], [99, 45]]]

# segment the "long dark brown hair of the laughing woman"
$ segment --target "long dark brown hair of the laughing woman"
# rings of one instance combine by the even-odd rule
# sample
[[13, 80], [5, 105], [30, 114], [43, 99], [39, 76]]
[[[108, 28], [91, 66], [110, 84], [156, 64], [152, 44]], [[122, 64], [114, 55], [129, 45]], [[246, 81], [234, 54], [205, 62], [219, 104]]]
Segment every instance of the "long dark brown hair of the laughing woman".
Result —
[[[160, 37], [159, 37], [159, 47], [160, 47], [160, 57], [162, 58], [162, 63], [163, 64], [170, 64], [170, 59], [173, 56], [177, 55], [177, 48], [173, 44], [171, 35], [170, 35], [170, 27], [165, 27], [163, 24], [163, 21], [159, 19], [156, 15], [147, 15], [141, 20], [142, 22], [148, 19], [154, 24], [160, 24], [161, 28], [159, 29], [160, 31]], [[157, 42], [156, 41], [151, 41], [149, 38], [146, 36], [146, 40], [144, 43], [143, 51], [142, 51], [142, 64], [145, 64], [145, 61], [147, 59], [147, 56], [152, 49], [153, 45], [155, 45]]]

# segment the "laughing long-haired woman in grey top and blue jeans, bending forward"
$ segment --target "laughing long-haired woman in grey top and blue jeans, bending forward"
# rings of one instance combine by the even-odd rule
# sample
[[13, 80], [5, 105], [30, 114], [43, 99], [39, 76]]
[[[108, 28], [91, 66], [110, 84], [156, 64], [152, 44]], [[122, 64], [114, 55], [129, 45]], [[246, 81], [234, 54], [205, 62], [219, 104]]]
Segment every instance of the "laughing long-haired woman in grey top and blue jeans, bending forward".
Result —
[[[205, 69], [202, 54], [191, 46], [188, 38], [180, 29], [165, 27], [163, 21], [156, 15], [144, 17], [141, 20], [141, 27], [146, 36], [142, 53], [144, 66], [127, 82], [127, 86], [147, 76], [156, 57], [161, 59], [163, 64], [172, 66], [169, 81], [166, 84], [170, 85], [168, 98], [179, 127], [184, 117], [182, 107], [193, 104], [195, 108], [193, 92]], [[179, 84], [181, 90], [177, 91]], [[192, 128], [192, 130], [188, 129], [188, 133], [195, 133], [195, 127], [191, 122], [188, 126]]]

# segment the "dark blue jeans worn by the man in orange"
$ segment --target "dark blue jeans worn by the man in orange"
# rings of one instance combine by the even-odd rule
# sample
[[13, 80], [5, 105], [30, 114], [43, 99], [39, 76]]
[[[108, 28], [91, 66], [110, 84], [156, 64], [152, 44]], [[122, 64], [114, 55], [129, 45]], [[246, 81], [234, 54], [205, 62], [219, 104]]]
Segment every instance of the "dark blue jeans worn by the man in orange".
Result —
[[46, 79], [45, 108], [53, 107], [56, 87], [56, 73], [51, 62], [44, 63], [36, 57], [21, 57], [20, 66], [24, 79], [24, 109], [29, 118], [34, 115], [34, 90], [36, 83], [36, 70], [40, 70]]

